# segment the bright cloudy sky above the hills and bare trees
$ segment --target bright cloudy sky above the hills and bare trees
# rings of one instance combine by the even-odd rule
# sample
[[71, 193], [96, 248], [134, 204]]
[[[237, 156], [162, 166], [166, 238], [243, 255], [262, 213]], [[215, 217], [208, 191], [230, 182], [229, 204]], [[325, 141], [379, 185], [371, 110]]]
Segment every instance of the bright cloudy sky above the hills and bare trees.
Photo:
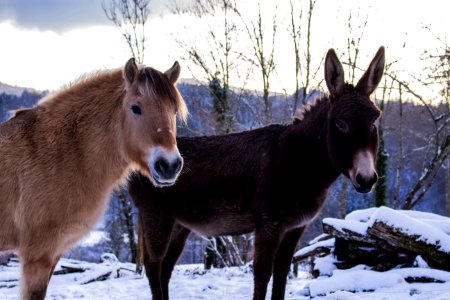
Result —
[[[246, 12], [255, 11], [253, 2], [245, 2], [250, 5]], [[174, 16], [168, 13], [168, 3], [169, 0], [151, 2], [144, 62], [164, 71], [175, 60], [181, 60], [182, 78], [203, 79], [203, 74], [191, 68], [189, 61], [182, 60], [186, 52], [174, 37], [184, 35], [201, 45], [206, 24], [217, 20]], [[279, 24], [275, 48], [277, 69], [272, 75], [271, 88], [290, 93], [294, 86], [294, 60], [287, 31], [289, 1], [277, 1], [276, 7], [273, 3], [261, 0], [263, 13], [276, 12]], [[123, 66], [130, 52], [120, 30], [105, 17], [101, 4], [102, 0], [0, 0], [0, 82], [55, 90], [83, 74]], [[388, 61], [398, 59], [396, 68], [405, 74], [417, 74], [423, 67], [420, 62], [423, 50], [436, 48], [436, 37], [448, 40], [448, 11], [447, 0], [317, 0], [312, 23], [313, 67], [320, 68], [329, 48], [345, 53], [349, 36], [347, 19], [351, 12], [354, 36], [364, 32], [360, 49], [362, 66], [366, 67], [378, 47], [384, 45]], [[366, 20], [367, 25], [363, 26]], [[267, 17], [265, 25], [271, 21]], [[426, 30], [424, 26], [431, 29]], [[248, 87], [260, 89], [259, 72], [252, 70], [249, 77]], [[239, 80], [236, 78], [234, 84], [239, 85]]]

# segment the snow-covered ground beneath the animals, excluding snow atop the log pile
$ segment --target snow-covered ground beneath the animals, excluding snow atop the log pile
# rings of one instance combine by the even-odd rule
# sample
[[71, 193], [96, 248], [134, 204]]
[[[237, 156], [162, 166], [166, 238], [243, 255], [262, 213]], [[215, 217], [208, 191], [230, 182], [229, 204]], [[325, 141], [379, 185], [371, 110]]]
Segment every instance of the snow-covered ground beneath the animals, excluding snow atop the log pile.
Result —
[[[126, 269], [132, 264], [107, 262], [92, 264], [62, 259], [61, 265], [88, 268], [83, 273], [53, 276], [46, 299], [150, 299], [145, 277]], [[117, 269], [120, 276], [117, 277]], [[0, 299], [18, 299], [19, 264], [10, 262], [0, 266]], [[104, 281], [89, 282], [92, 278], [113, 270]], [[406, 276], [433, 273], [442, 283], [407, 283]], [[9, 287], [6, 287], [9, 286]], [[253, 276], [250, 268], [203, 270], [202, 265], [179, 265], [170, 284], [171, 299], [251, 299]], [[312, 279], [306, 272], [288, 280], [286, 299], [450, 299], [450, 272], [427, 268], [410, 268], [374, 272], [363, 266], [351, 270], [335, 270], [331, 277]], [[270, 288], [267, 299], [270, 299]]]

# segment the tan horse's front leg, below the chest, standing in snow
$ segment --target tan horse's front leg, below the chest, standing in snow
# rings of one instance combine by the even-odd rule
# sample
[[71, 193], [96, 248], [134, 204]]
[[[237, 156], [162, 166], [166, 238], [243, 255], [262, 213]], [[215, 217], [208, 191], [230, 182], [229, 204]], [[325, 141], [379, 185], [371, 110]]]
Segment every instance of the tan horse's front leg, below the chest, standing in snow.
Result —
[[50, 255], [25, 258], [22, 262], [22, 299], [42, 300], [47, 293], [47, 287], [57, 259]]

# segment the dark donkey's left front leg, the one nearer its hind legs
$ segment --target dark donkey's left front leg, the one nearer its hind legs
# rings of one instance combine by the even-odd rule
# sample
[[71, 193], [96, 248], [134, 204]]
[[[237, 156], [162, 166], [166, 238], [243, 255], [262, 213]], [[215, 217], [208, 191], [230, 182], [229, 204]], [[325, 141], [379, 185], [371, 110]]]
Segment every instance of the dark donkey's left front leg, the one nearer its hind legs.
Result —
[[254, 290], [253, 300], [264, 300], [267, 284], [273, 271], [275, 253], [278, 249], [282, 232], [269, 225], [255, 232], [255, 251], [253, 257]]

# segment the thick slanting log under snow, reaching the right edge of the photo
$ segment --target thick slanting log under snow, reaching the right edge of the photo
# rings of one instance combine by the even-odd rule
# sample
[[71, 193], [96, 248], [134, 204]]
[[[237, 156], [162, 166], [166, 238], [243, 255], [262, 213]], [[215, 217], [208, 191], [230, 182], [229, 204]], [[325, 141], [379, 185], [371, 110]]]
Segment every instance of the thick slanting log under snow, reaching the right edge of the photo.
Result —
[[375, 221], [367, 231], [390, 245], [421, 255], [432, 267], [450, 271], [450, 252], [441, 251], [439, 245], [427, 243], [418, 235], [408, 235], [401, 229], [381, 221]]

